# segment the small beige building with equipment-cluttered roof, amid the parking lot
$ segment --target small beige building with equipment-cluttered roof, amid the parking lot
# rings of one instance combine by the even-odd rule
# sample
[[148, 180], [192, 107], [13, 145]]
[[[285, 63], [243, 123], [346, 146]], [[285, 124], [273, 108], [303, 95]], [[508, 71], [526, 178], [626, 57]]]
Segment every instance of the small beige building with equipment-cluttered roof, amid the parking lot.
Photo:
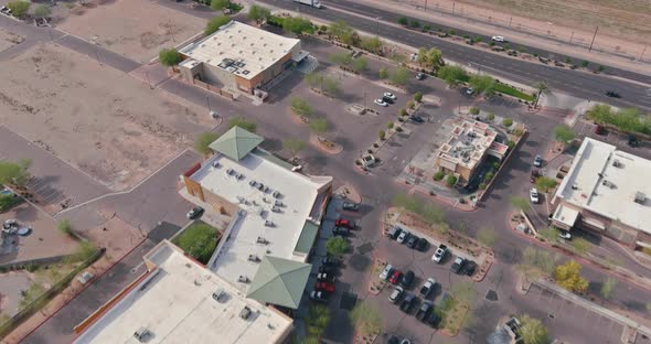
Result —
[[508, 146], [495, 141], [497, 137], [498, 131], [489, 125], [465, 120], [452, 128], [450, 138], [439, 148], [435, 166], [469, 182], [487, 155], [501, 161], [509, 151]]

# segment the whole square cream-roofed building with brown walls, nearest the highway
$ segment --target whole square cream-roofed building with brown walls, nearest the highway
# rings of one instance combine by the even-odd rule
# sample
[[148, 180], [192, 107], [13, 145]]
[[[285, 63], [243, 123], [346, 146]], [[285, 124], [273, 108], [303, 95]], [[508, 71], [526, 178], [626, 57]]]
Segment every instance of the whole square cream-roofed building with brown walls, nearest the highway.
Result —
[[305, 58], [300, 40], [285, 37], [237, 21], [182, 47], [179, 65], [188, 82], [253, 93]]

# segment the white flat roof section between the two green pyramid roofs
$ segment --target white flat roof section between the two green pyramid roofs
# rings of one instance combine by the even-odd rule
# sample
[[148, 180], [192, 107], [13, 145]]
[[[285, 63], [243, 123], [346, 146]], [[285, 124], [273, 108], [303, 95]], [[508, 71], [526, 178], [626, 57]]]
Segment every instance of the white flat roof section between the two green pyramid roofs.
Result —
[[[218, 163], [217, 168], [213, 166], [215, 162]], [[242, 174], [242, 178], [228, 175], [230, 170]], [[306, 219], [310, 218], [319, 190], [331, 179], [317, 182], [316, 178], [291, 172], [255, 153], [246, 154], [238, 162], [215, 154], [191, 179], [199, 182], [202, 189], [246, 212], [238, 221], [235, 217], [230, 238], [217, 247], [216, 261], [209, 267], [213, 271], [245, 290], [248, 284], [238, 282], [239, 276], [253, 280], [259, 266], [248, 260], [249, 255], [260, 259], [269, 255], [301, 262], [306, 260], [305, 255], [294, 255], [294, 249]], [[268, 192], [252, 186], [254, 181], [256, 185], [262, 183], [268, 186]], [[274, 191], [280, 193], [278, 198], [274, 197]], [[279, 213], [271, 211], [276, 201], [282, 203]], [[263, 216], [259, 215], [260, 211], [264, 212]], [[265, 226], [266, 221], [273, 222], [274, 227]], [[268, 244], [257, 244], [258, 237]]]

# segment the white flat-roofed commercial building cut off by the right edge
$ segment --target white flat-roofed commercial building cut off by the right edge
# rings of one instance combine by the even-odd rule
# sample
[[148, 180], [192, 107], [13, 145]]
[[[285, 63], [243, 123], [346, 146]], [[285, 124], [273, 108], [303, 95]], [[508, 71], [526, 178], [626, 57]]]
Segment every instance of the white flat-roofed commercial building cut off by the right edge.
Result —
[[651, 247], [650, 173], [650, 160], [585, 138], [554, 195], [554, 225]]

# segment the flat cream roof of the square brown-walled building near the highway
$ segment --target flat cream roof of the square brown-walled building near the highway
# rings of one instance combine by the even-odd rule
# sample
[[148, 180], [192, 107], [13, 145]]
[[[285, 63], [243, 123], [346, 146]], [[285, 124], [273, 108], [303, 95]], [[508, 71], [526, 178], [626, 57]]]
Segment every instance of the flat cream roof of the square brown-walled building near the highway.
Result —
[[[297, 44], [300, 44], [300, 40], [231, 21], [213, 34], [184, 46], [179, 52], [250, 79], [287, 55]], [[228, 66], [230, 63], [223, 63], [225, 58], [237, 64]]]

